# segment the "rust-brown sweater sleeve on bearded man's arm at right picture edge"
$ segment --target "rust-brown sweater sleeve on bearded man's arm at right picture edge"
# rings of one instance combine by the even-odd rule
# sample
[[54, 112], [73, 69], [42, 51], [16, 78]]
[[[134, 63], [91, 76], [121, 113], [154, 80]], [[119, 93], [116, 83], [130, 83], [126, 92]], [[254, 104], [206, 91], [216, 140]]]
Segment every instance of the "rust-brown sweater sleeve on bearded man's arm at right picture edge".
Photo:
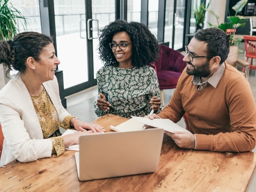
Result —
[[228, 85], [226, 103], [232, 131], [216, 135], [196, 134], [196, 149], [243, 152], [255, 148], [255, 101], [250, 84], [244, 77], [237, 78]]

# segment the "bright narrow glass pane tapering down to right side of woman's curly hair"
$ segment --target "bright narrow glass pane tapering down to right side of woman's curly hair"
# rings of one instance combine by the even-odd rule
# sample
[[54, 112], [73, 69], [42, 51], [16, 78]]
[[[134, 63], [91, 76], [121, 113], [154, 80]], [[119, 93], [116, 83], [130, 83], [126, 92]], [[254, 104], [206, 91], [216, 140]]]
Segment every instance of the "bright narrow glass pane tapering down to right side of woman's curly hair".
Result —
[[148, 0], [148, 28], [157, 38], [158, 0]]

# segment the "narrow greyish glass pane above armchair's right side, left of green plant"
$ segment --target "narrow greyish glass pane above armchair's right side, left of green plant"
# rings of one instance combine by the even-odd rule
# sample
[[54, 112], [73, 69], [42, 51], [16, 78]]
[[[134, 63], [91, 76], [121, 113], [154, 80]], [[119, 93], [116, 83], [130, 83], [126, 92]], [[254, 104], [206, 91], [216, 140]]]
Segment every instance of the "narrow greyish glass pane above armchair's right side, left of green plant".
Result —
[[184, 14], [185, 0], [177, 0], [176, 18], [175, 18], [175, 34], [174, 34], [174, 50], [183, 48], [183, 30], [184, 30]]

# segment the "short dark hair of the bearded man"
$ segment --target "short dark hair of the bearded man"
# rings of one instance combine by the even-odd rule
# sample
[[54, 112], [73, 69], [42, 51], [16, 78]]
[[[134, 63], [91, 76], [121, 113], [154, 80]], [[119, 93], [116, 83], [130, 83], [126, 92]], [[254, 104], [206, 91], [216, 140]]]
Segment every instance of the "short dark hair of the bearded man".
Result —
[[229, 38], [226, 33], [219, 28], [199, 29], [195, 38], [207, 43], [207, 55], [220, 56], [220, 64], [228, 58]]

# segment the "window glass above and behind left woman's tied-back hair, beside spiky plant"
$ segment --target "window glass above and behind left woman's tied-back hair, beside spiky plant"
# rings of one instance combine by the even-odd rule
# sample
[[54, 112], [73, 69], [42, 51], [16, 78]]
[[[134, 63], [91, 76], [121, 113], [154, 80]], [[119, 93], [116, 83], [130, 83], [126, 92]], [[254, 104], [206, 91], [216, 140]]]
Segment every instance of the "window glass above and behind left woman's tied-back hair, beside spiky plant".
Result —
[[[24, 0], [10, 0], [10, 3], [18, 9], [21, 14], [26, 18], [27, 21], [27, 31], [36, 31], [41, 33], [41, 21], [40, 21], [40, 9], [39, 9], [39, 0], [27, 0], [24, 3]], [[22, 23], [20, 20], [17, 20], [19, 32], [24, 32]], [[18, 73], [14, 69], [10, 71], [10, 75]]]

